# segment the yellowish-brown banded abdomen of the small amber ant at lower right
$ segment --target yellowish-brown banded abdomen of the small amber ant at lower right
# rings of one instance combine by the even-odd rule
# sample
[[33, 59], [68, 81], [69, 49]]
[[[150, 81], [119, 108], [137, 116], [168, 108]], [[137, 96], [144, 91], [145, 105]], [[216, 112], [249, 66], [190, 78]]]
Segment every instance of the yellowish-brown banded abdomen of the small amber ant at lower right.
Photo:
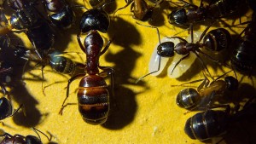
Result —
[[178, 107], [189, 109], [196, 107], [201, 101], [201, 96], [195, 89], [183, 89], [177, 94], [176, 103]]

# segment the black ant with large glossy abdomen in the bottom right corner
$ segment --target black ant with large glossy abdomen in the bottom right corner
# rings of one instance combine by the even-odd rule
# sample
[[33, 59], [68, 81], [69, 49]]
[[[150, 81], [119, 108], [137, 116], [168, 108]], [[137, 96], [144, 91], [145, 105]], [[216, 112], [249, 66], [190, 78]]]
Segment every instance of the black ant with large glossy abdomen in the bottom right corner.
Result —
[[187, 120], [184, 131], [189, 138], [200, 141], [221, 135], [231, 123], [250, 118], [255, 119], [256, 105], [253, 100], [255, 100], [255, 97], [249, 99], [241, 111], [234, 114], [230, 113], [229, 105], [220, 106], [226, 107], [224, 111], [207, 109], [205, 112], [198, 112]]

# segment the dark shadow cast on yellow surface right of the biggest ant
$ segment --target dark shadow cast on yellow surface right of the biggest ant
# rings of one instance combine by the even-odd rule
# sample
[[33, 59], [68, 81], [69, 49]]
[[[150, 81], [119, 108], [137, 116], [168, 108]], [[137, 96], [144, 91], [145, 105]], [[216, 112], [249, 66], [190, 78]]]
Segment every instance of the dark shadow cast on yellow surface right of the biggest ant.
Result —
[[[117, 18], [111, 21], [109, 28], [109, 37], [114, 37], [113, 43], [122, 47], [122, 49], [112, 54], [108, 50], [105, 58], [108, 62], [113, 62], [114, 75], [114, 97], [110, 107], [108, 121], [102, 126], [110, 130], [119, 130], [130, 124], [137, 112], [137, 102], [135, 93], [132, 89], [125, 85], [136, 86], [137, 78], [131, 77], [131, 72], [136, 64], [136, 60], [141, 54], [138, 54], [131, 48], [131, 45], [139, 45], [141, 43], [141, 35], [137, 29], [129, 22]], [[110, 46], [109, 49], [115, 49]], [[145, 83], [140, 83], [137, 86], [147, 89]]]

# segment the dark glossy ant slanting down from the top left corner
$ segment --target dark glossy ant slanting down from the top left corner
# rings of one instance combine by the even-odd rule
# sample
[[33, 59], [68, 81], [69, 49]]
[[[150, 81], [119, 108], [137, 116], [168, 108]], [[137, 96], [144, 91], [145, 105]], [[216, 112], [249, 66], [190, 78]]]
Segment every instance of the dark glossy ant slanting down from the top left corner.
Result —
[[47, 55], [55, 37], [48, 22], [33, 6], [34, 3], [26, 0], [8, 0], [8, 3], [15, 10], [15, 13], [10, 17], [12, 28], [25, 32], [41, 57]]

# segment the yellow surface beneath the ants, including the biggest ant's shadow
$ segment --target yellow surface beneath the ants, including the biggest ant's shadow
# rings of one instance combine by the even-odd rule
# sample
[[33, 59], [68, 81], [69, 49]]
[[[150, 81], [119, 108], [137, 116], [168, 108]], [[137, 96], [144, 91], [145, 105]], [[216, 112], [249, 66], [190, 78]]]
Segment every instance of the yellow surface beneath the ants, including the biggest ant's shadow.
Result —
[[[76, 2], [83, 4], [82, 0], [77, 0]], [[119, 0], [116, 3], [117, 8], [123, 5], [125, 5], [125, 0]], [[172, 36], [177, 32], [183, 31], [168, 23], [166, 14], [169, 14], [170, 10], [164, 5], [161, 5], [161, 7], [164, 9], [157, 7], [159, 14], [154, 17], [155, 23], [160, 28], [160, 37]], [[76, 11], [85, 11], [85, 9]], [[120, 10], [117, 14], [131, 14], [130, 7]], [[243, 20], [246, 21], [247, 18], [243, 17]], [[110, 48], [100, 60], [101, 66], [113, 66], [115, 69], [115, 96], [111, 97], [111, 112], [106, 124], [97, 126], [86, 124], [81, 118], [77, 106], [66, 107], [63, 115], [59, 115], [58, 112], [66, 95], [67, 79], [70, 77], [63, 77], [60, 74], [51, 72], [50, 67], [47, 66], [45, 68], [46, 71], [44, 71], [44, 86], [59, 81], [62, 81], [62, 83], [47, 87], [45, 89], [46, 96], [44, 96], [41, 89], [41, 81], [26, 80], [26, 89], [23, 89], [25, 93], [23, 91], [18, 92], [20, 96], [18, 99], [25, 105], [27, 116], [26, 118], [15, 116], [18, 117], [18, 120], [15, 121], [14, 118], [4, 119], [4, 124], [8, 126], [3, 126], [3, 130], [12, 135], [16, 133], [20, 135], [36, 135], [29, 129], [30, 127], [36, 127], [44, 132], [49, 131], [54, 135], [53, 141], [60, 144], [201, 143], [201, 141], [190, 140], [183, 131], [186, 120], [195, 114], [195, 112], [189, 112], [184, 115], [183, 113], [186, 110], [176, 105], [176, 95], [184, 88], [171, 87], [173, 84], [183, 84], [187, 81], [203, 78], [200, 62], [196, 61], [193, 65], [194, 68], [186, 72], [182, 78], [168, 78], [166, 76], [166, 66], [166, 69], [159, 77], [148, 76], [139, 84], [135, 84], [137, 78], [148, 72], [148, 61], [155, 45], [159, 43], [154, 29], [138, 26], [136, 21], [129, 15], [118, 15], [115, 20], [112, 17], [108, 34], [102, 34], [103, 37], [106, 37], [106, 40], [109, 37], [114, 37]], [[140, 23], [149, 25], [148, 22]], [[199, 27], [200, 31], [203, 31], [206, 26]], [[240, 33], [241, 30], [242, 28], [236, 28], [237, 33]], [[70, 52], [80, 52], [80, 57], [76, 54], [71, 55], [76, 57], [76, 61], [84, 63], [85, 55], [80, 50], [76, 40], [78, 25], [71, 30], [63, 31], [61, 35], [58, 33], [56, 35], [55, 48], [65, 49], [65, 51]], [[188, 32], [183, 32], [178, 36], [186, 37], [187, 35]], [[27, 47], [32, 47], [27, 39], [24, 38], [26, 37], [25, 34], [21, 33], [17, 36], [26, 41]], [[212, 75], [223, 74], [221, 69], [217, 68], [212, 71], [212, 65], [207, 66], [211, 69]], [[216, 68], [216, 66], [213, 67]], [[229, 69], [224, 68], [224, 72], [227, 71]], [[32, 70], [31, 73], [41, 77], [41, 72], [38, 69]], [[26, 72], [25, 78], [33, 79], [34, 77]], [[239, 78], [241, 78], [240, 74]], [[253, 81], [255, 81], [255, 78], [253, 78]], [[247, 77], [242, 80], [242, 83], [245, 82], [250, 82], [251, 84]], [[77, 103], [75, 90], [78, 84], [79, 80], [76, 80], [71, 85], [70, 97], [67, 102]], [[197, 86], [197, 84], [191, 85]], [[13, 103], [15, 107], [18, 107], [15, 101]], [[48, 142], [43, 135], [41, 137], [44, 143]]]

